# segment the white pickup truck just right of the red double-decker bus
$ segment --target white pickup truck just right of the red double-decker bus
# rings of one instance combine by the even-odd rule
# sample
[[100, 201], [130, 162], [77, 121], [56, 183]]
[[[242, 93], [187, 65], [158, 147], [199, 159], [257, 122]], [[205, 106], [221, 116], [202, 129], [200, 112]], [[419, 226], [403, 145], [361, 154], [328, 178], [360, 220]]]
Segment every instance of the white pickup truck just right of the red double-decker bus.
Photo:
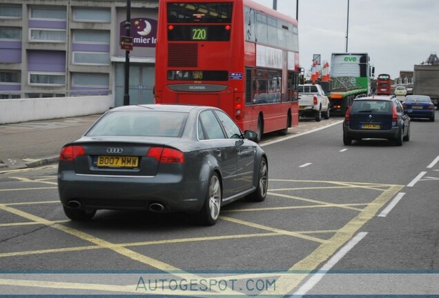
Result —
[[319, 84], [299, 85], [299, 116], [329, 119], [329, 99]]

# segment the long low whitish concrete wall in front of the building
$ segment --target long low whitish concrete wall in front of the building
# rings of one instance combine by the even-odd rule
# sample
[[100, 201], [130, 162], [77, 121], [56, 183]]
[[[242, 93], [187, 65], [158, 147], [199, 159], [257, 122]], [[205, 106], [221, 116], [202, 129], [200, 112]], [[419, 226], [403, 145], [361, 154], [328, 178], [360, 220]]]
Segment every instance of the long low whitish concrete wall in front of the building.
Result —
[[0, 124], [99, 114], [114, 103], [113, 95], [0, 99]]

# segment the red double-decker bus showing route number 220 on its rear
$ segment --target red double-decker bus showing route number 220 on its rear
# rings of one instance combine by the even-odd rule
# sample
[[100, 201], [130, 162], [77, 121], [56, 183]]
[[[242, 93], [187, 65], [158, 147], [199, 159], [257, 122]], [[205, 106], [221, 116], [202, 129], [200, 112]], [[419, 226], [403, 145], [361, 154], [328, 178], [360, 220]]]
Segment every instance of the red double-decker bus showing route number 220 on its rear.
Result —
[[155, 102], [215, 106], [242, 130], [298, 123], [297, 21], [250, 0], [161, 0]]

